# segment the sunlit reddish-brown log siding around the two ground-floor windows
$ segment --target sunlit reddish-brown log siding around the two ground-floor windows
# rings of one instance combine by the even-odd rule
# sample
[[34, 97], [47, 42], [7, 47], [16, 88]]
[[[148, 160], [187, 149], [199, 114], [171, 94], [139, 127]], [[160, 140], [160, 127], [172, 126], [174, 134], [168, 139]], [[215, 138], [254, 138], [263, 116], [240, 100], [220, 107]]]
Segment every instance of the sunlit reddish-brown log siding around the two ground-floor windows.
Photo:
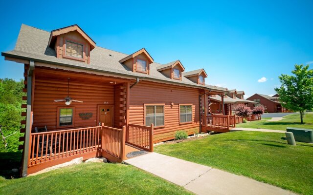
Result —
[[[199, 131], [199, 89], [140, 81], [130, 90], [129, 123], [144, 125], [144, 104], [165, 103], [164, 127], [154, 129], [154, 143], [173, 139], [176, 131]], [[171, 106], [171, 103], [174, 106]], [[179, 104], [193, 104], [192, 121], [179, 125]]]

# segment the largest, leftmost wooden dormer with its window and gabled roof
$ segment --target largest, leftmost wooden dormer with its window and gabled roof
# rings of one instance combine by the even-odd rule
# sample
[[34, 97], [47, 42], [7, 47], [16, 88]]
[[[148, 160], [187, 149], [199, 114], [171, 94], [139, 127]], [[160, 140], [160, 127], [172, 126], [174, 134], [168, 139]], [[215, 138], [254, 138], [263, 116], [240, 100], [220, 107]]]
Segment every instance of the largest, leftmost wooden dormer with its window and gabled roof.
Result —
[[90, 63], [90, 51], [96, 43], [77, 25], [51, 31], [49, 47], [54, 48], [56, 57]]

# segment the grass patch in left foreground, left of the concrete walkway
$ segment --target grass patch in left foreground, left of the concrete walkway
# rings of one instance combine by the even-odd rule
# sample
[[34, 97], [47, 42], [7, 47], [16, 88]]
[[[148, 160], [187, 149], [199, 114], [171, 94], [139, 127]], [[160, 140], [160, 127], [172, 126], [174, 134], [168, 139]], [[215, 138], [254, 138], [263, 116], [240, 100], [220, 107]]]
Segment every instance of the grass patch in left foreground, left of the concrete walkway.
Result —
[[187, 195], [191, 193], [131, 165], [83, 163], [26, 178], [5, 180], [2, 177], [0, 194]]

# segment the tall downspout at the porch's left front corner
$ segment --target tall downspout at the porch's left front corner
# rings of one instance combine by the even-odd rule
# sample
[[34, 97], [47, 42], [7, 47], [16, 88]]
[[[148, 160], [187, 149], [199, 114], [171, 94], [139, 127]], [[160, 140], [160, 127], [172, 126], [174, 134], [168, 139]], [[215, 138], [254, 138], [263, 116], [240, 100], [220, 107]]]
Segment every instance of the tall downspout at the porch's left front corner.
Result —
[[30, 143], [30, 133], [31, 133], [31, 95], [32, 95], [32, 77], [35, 68], [35, 62], [30, 61], [29, 69], [27, 73], [27, 107], [26, 107], [26, 125], [25, 125], [25, 140], [24, 140], [24, 156], [22, 161], [22, 177], [27, 176], [28, 167], [28, 155], [29, 155], [29, 143]]

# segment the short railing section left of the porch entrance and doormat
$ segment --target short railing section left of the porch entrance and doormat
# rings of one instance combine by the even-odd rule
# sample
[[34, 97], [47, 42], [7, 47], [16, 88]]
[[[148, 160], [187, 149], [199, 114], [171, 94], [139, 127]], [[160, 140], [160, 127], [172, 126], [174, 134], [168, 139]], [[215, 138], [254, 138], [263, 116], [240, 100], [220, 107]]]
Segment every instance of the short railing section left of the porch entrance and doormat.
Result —
[[[126, 127], [116, 129], [102, 124], [101, 149], [122, 161], [125, 158]], [[107, 157], [107, 156], [105, 156]], [[109, 159], [110, 160], [110, 159]]]

